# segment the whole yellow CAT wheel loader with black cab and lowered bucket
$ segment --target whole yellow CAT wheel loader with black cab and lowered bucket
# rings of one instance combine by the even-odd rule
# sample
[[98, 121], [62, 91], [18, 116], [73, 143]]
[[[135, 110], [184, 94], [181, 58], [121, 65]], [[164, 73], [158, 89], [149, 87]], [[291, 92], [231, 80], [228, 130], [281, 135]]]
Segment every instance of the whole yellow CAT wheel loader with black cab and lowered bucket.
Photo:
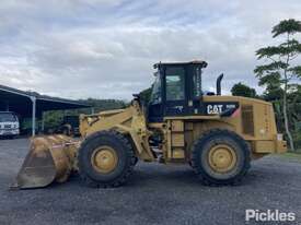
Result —
[[32, 139], [15, 188], [63, 182], [78, 171], [90, 187], [124, 185], [138, 159], [189, 164], [205, 185], [239, 183], [251, 159], [283, 153], [273, 105], [201, 90], [205, 61], [154, 64], [151, 99], [135, 95], [125, 109], [81, 115], [81, 140]]

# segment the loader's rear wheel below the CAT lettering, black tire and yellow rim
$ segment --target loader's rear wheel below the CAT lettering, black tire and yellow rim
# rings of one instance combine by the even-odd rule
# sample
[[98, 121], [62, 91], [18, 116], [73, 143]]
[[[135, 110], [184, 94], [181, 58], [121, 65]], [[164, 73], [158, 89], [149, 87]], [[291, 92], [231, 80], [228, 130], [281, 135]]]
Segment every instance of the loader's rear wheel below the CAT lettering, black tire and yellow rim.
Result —
[[205, 185], [238, 185], [250, 168], [250, 146], [240, 135], [213, 129], [194, 144], [192, 166]]

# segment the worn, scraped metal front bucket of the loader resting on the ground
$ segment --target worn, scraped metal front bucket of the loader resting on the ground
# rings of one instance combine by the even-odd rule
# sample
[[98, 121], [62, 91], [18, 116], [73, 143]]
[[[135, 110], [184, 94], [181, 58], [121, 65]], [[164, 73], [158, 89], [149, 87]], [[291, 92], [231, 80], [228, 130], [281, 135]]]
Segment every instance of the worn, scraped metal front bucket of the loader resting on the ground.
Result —
[[33, 138], [30, 152], [11, 188], [42, 188], [54, 181], [66, 181], [77, 169], [79, 143], [65, 135]]

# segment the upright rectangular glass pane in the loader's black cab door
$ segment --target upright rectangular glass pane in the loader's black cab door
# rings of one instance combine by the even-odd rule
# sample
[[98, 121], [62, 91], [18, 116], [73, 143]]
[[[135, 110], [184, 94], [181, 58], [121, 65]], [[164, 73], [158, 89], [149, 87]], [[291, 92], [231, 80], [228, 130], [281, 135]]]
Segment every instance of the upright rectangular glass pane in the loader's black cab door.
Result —
[[166, 68], [166, 100], [182, 100], [185, 98], [185, 70], [182, 67]]

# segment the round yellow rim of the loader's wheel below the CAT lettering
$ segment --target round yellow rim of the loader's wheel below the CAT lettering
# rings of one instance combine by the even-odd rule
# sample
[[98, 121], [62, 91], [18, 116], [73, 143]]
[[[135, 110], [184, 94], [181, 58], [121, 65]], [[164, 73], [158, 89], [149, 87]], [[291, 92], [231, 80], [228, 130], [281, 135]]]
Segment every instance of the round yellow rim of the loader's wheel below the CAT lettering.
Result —
[[218, 144], [209, 152], [209, 165], [216, 173], [232, 170], [238, 162], [235, 151], [225, 144]]

